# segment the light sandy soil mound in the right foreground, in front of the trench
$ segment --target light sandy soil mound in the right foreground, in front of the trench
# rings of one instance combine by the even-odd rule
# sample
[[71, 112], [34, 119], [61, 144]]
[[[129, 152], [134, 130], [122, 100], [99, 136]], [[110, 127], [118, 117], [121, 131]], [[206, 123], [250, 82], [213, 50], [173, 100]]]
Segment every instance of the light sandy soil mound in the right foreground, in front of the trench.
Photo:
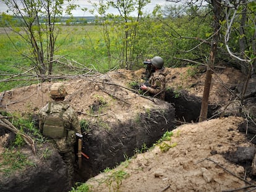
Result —
[[[159, 147], [163, 143], [158, 144], [87, 183], [93, 186], [92, 191], [223, 191], [244, 187], [244, 167], [222, 155], [239, 146], [252, 146], [237, 130], [241, 122], [239, 117], [227, 117], [182, 125], [173, 131], [171, 141], [164, 141], [176, 145], [167, 152]], [[124, 179], [117, 180], [117, 172], [126, 173]]]

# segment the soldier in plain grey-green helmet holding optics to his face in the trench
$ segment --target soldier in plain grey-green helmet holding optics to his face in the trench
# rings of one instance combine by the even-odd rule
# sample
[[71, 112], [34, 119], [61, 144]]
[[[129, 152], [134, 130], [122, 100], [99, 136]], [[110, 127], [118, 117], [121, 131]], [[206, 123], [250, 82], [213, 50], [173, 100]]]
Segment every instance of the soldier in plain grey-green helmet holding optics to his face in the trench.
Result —
[[147, 64], [151, 66], [150, 71], [148, 71], [148, 83], [140, 86], [140, 89], [149, 93], [153, 98], [164, 100], [166, 83], [164, 61], [161, 57], [156, 56], [153, 59], [148, 59]]

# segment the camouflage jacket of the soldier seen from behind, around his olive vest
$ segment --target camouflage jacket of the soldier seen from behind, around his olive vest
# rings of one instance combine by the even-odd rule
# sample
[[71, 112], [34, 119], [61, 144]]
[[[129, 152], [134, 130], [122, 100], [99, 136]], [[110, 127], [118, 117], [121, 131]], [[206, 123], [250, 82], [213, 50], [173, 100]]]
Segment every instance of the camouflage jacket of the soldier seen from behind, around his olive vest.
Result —
[[74, 109], [69, 106], [66, 102], [49, 102], [39, 112], [39, 128], [43, 132], [45, 121], [49, 115], [59, 117], [64, 121], [65, 134], [62, 138], [52, 138], [59, 152], [68, 152], [74, 148], [75, 133], [81, 133], [79, 119]]

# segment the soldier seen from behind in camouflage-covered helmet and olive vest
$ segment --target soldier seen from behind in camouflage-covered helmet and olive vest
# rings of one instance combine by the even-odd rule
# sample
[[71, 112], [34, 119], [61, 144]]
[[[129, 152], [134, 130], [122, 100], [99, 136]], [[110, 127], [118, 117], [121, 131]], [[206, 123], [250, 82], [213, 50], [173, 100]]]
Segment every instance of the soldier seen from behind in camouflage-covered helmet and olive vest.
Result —
[[74, 109], [64, 98], [67, 95], [62, 83], [54, 83], [50, 89], [53, 101], [39, 112], [39, 128], [44, 136], [51, 139], [67, 167], [69, 186], [74, 184], [75, 133], [81, 133], [80, 123]]

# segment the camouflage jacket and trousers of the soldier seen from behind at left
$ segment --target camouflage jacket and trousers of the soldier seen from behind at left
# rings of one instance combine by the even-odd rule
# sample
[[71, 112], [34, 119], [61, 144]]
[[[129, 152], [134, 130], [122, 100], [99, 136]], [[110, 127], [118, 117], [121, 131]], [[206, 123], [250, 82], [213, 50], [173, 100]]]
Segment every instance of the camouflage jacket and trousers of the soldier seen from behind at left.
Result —
[[[75, 113], [74, 109], [72, 109], [72, 107], [70, 107], [69, 104], [67, 104], [66, 102], [54, 101], [46, 104], [46, 106], [40, 110], [39, 115], [39, 127], [42, 132], [44, 129], [44, 125], [46, 124], [46, 119], [49, 115], [55, 117], [56, 119], [61, 117], [62, 121], [64, 121], [62, 122], [65, 130], [63, 136], [61, 138], [52, 138], [51, 136], [48, 137], [54, 141], [56, 148], [58, 148], [59, 150], [59, 154], [62, 156], [62, 159], [66, 163], [69, 184], [70, 186], [72, 186], [74, 183], [74, 144], [76, 141], [75, 133], [81, 133], [79, 120], [77, 119], [77, 114]], [[59, 122], [54, 123], [59, 125]], [[43, 135], [45, 135], [44, 132]]]

